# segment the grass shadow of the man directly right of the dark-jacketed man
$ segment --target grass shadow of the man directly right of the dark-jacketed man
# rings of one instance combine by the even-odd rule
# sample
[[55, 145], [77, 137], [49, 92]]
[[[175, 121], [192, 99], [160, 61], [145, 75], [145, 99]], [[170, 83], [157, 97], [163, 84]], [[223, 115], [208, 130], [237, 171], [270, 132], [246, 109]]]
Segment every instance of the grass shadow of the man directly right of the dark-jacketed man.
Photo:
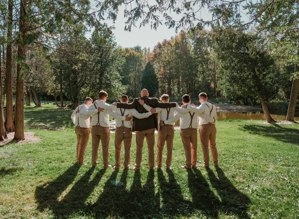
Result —
[[163, 171], [157, 169], [159, 193], [162, 196], [161, 216], [169, 217], [176, 215], [188, 215], [193, 212], [193, 204], [191, 201], [184, 200], [181, 186], [177, 183], [172, 170], [167, 170], [169, 182], [165, 179]]

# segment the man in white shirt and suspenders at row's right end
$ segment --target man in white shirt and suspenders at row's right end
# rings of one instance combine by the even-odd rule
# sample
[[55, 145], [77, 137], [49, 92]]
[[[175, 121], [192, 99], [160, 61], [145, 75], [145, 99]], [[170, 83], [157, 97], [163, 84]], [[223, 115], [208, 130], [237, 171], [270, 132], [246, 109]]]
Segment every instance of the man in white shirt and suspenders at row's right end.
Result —
[[[216, 107], [210, 104], [208, 101], [207, 94], [202, 92], [199, 94], [199, 102], [201, 105], [199, 107], [193, 107], [191, 105], [187, 105], [187, 109], [190, 109], [195, 113], [203, 113], [207, 116], [217, 119]], [[209, 167], [209, 145], [211, 149], [211, 154], [213, 158], [214, 166], [218, 166], [218, 152], [216, 148], [216, 127], [215, 121], [211, 122], [207, 119], [201, 118], [199, 120], [199, 138], [200, 144], [202, 146], [202, 153], [204, 157], [204, 166]]]

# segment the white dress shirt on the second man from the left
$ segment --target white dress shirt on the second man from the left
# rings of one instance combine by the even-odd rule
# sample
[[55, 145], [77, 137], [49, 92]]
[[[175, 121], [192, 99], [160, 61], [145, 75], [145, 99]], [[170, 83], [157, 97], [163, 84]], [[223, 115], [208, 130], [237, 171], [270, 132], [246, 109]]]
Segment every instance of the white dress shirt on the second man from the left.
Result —
[[[99, 104], [100, 103], [103, 103], [103, 104], [107, 104], [105, 103], [105, 101], [103, 100], [97, 100], [94, 104], [96, 105], [96, 107], [94, 107], [94, 104], [91, 104], [90, 107], [89, 107], [89, 111], [94, 111], [92, 114], [91, 114], [91, 125], [92, 126], [95, 126], [97, 125], [97, 108], [99, 107]], [[109, 105], [109, 104], [107, 104]], [[96, 109], [96, 110], [94, 110]], [[78, 113], [79, 114], [79, 113]], [[100, 123], [100, 126], [102, 127], [110, 127], [110, 121], [109, 121], [109, 115], [115, 119], [118, 119], [120, 121], [125, 121], [126, 120], [126, 116], [121, 116], [115, 112], [112, 112], [111, 110], [107, 110], [105, 109], [103, 112], [100, 112], [99, 114], [99, 123]], [[82, 113], [80, 113], [78, 115], [78, 117], [80, 118], [86, 118], [87, 115], [84, 115]]]

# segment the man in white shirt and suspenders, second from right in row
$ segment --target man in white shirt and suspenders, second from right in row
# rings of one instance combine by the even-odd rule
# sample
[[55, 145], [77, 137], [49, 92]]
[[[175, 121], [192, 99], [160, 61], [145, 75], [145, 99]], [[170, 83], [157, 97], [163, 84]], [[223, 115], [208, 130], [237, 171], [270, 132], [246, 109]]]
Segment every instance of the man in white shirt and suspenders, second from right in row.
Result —
[[[185, 94], [182, 97], [183, 106], [191, 105], [190, 96]], [[185, 107], [184, 107], [185, 108]], [[180, 129], [181, 129], [181, 139], [183, 142], [183, 147], [185, 151], [185, 165], [181, 166], [184, 169], [197, 168], [197, 127], [198, 127], [198, 117], [201, 117], [207, 121], [214, 122], [214, 119], [205, 115], [191, 113], [176, 113], [176, 115], [166, 121], [160, 121], [160, 126], [171, 124], [176, 120], [180, 119]]]

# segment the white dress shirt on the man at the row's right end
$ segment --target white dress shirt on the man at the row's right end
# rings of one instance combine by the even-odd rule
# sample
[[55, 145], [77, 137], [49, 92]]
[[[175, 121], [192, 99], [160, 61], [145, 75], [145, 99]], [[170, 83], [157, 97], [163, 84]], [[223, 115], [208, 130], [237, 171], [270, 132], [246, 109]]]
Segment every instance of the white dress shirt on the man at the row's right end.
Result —
[[[213, 106], [213, 109], [212, 109], [212, 106]], [[199, 107], [193, 107], [191, 105], [188, 105], [187, 109], [190, 109], [190, 111], [192, 111], [192, 112], [203, 113], [208, 116], [210, 116], [210, 110], [212, 109], [211, 117], [213, 117], [213, 118], [215, 118], [215, 120], [217, 120], [216, 107], [214, 105], [210, 104], [208, 101], [202, 102], [202, 104]], [[211, 122], [211, 121], [209, 121], [205, 118], [202, 118], [202, 117], [199, 118], [199, 125], [208, 124], [209, 122]], [[214, 120], [211, 123], [215, 124]]]

